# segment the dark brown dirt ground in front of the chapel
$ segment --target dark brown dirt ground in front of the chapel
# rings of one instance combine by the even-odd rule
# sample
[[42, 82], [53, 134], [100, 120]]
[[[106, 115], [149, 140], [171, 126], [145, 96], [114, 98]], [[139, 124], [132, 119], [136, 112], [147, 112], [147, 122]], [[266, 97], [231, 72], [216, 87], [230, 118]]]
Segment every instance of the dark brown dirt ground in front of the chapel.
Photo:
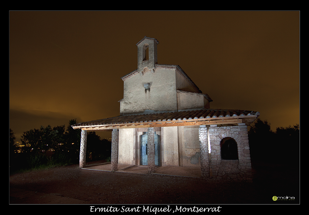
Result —
[[[293, 196], [295, 200], [273, 201], [273, 196]], [[10, 175], [9, 203], [277, 205], [299, 204], [299, 198], [298, 169], [268, 163], [255, 164], [252, 183], [69, 165]]]

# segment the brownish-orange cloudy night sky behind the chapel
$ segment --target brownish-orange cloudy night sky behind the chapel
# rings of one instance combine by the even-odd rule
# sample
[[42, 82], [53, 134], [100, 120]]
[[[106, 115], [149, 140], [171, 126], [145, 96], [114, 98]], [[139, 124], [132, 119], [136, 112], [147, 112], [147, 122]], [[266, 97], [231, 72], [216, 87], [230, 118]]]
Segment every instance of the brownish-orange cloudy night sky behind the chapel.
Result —
[[[122, 76], [144, 36], [213, 100], [260, 112], [272, 130], [299, 124], [299, 11], [10, 11], [9, 123], [40, 126], [118, 116]], [[111, 132], [98, 133], [109, 138]]]

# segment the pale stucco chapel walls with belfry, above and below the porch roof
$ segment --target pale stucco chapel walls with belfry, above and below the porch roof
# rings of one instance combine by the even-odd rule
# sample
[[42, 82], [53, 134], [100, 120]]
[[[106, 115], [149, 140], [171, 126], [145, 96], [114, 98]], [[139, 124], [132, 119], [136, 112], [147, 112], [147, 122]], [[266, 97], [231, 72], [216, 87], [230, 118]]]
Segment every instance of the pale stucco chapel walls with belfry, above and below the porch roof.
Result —
[[[148, 114], [210, 108], [212, 101], [201, 93], [193, 81], [178, 65], [158, 64], [157, 44], [154, 38], [145, 37], [138, 44], [138, 69], [121, 77], [124, 81], [120, 114]], [[148, 50], [145, 49], [148, 47]], [[145, 59], [148, 51], [149, 59]], [[190, 126], [185, 126], [190, 127]], [[196, 126], [195, 126], [196, 127]], [[198, 131], [198, 127], [196, 128]], [[147, 130], [144, 129], [144, 134]], [[141, 165], [140, 129], [119, 130], [118, 162]], [[184, 126], [160, 128], [160, 165], [199, 165], [199, 146], [184, 145]]]

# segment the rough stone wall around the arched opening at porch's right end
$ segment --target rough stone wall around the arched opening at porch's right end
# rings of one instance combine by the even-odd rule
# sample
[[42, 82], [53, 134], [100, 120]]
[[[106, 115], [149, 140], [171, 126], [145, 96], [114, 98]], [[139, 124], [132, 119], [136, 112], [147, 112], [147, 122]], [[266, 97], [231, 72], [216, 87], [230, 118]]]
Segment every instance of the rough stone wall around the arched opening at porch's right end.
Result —
[[[209, 128], [211, 170], [214, 178], [252, 180], [251, 158], [246, 125]], [[238, 160], [222, 160], [220, 143], [231, 137], [237, 143]]]

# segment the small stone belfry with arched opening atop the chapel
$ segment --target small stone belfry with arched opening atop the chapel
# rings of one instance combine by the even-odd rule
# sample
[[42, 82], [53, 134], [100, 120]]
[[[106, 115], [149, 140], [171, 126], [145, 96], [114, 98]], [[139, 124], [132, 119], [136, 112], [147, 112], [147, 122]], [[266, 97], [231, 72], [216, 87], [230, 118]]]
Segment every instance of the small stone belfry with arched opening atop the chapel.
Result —
[[[155, 64], [158, 63], [157, 45], [155, 38], [144, 37], [136, 45], [138, 47], [138, 72], [141, 76], [146, 72], [155, 72]], [[148, 57], [147, 57], [148, 56]]]

